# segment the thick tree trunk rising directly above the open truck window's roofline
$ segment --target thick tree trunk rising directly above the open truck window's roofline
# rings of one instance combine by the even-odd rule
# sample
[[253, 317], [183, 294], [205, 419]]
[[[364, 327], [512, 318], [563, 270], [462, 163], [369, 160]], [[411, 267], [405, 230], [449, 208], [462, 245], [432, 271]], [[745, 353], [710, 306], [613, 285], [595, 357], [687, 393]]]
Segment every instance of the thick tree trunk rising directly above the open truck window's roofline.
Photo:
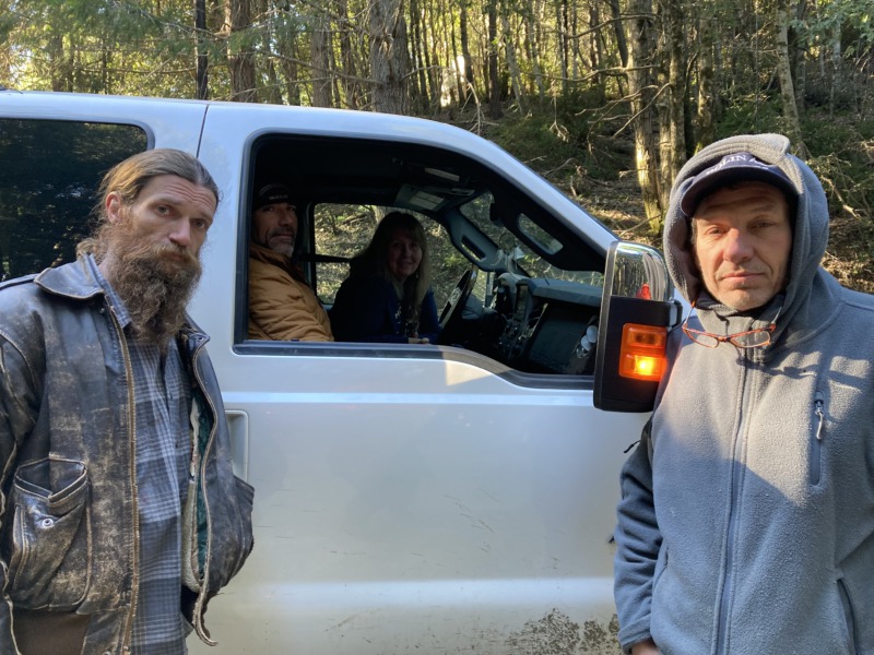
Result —
[[403, 0], [370, 4], [370, 74], [375, 111], [406, 114], [406, 23]]

